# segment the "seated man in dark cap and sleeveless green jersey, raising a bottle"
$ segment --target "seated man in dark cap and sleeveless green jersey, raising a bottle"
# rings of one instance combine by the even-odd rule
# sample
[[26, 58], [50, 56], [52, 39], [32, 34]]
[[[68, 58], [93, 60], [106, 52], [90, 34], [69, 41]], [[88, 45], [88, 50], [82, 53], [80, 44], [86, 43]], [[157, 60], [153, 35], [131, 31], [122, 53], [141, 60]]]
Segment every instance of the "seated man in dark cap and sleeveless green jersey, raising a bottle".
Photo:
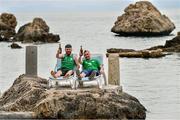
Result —
[[64, 76], [66, 78], [73, 74], [75, 65], [77, 65], [78, 69], [80, 67], [77, 56], [73, 56], [73, 54], [71, 54], [72, 46], [70, 44], [65, 46], [65, 52], [66, 54], [62, 54], [61, 50], [58, 50], [56, 53], [56, 58], [61, 59], [61, 68], [59, 68], [57, 72], [51, 71], [51, 75], [54, 78], [60, 76]]

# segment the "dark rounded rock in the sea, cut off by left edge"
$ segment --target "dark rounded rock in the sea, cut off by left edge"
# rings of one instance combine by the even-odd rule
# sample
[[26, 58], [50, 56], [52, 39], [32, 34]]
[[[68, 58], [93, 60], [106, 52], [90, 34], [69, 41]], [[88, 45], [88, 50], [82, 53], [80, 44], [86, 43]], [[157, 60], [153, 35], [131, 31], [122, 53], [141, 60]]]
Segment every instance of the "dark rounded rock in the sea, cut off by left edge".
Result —
[[16, 34], [16, 17], [10, 13], [0, 15], [0, 41], [10, 41]]

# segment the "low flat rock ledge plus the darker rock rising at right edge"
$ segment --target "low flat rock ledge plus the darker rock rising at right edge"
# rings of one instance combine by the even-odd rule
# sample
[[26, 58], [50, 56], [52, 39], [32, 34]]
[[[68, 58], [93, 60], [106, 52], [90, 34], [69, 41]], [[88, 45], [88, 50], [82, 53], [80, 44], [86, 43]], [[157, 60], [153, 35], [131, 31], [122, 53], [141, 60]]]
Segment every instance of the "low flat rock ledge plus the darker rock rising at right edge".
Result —
[[112, 53], [118, 53], [120, 57], [158, 58], [171, 54], [167, 52], [180, 52], [180, 35], [172, 40], [167, 40], [165, 45], [158, 45], [145, 50], [110, 48], [107, 49], [107, 56]]

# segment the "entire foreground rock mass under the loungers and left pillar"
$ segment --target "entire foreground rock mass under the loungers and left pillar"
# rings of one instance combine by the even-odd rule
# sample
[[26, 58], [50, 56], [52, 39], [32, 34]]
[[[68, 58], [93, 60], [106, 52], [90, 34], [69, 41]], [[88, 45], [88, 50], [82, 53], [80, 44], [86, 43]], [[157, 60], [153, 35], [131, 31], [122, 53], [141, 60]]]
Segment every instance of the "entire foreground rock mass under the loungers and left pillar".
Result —
[[36, 118], [145, 119], [146, 109], [124, 92], [49, 89], [47, 80], [21, 75], [0, 98], [0, 111], [32, 111]]

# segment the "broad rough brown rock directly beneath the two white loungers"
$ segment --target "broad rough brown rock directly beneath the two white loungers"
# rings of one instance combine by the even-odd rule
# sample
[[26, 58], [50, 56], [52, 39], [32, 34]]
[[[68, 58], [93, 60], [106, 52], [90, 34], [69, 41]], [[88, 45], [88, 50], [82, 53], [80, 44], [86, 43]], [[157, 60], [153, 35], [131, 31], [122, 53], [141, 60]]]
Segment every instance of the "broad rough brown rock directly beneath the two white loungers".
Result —
[[145, 119], [145, 108], [136, 98], [101, 90], [51, 91], [34, 111], [40, 118]]

